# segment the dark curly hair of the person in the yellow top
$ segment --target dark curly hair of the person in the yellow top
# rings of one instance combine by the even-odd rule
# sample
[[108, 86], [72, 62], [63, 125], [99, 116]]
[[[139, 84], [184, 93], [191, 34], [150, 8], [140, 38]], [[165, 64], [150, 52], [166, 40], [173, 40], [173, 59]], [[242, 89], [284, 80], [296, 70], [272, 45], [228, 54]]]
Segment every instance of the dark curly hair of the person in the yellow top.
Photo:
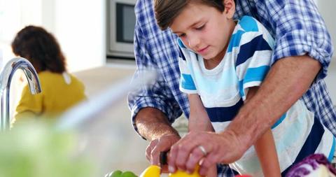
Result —
[[27, 26], [21, 29], [12, 42], [12, 50], [15, 55], [28, 59], [36, 72], [66, 71], [65, 57], [56, 38], [42, 27]]

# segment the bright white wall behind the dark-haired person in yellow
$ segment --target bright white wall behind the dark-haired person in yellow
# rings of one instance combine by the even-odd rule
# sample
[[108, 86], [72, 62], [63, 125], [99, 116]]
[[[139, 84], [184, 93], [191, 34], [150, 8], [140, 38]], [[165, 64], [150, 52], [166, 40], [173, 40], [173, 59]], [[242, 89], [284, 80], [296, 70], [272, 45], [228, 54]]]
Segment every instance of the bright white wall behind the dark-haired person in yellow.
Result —
[[102, 66], [105, 52], [105, 0], [0, 0], [0, 50], [4, 62], [13, 54], [16, 32], [34, 24], [55, 34], [69, 71]]

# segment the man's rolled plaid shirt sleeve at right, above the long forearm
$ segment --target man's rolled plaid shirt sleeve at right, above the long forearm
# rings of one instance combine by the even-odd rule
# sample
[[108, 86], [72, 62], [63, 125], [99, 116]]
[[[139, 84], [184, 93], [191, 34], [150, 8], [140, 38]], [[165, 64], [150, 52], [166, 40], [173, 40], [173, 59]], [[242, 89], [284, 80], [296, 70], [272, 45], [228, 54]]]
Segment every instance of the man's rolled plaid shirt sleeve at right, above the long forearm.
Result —
[[261, 21], [275, 28], [273, 61], [309, 55], [321, 63], [318, 79], [325, 78], [332, 57], [332, 43], [325, 23], [312, 0], [258, 1]]

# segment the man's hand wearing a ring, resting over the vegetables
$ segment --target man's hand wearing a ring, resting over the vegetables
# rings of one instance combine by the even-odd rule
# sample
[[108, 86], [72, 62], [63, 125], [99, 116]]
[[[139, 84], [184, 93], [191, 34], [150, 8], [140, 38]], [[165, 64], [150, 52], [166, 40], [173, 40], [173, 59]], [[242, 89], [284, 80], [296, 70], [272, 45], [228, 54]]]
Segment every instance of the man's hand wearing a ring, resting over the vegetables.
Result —
[[230, 132], [190, 132], [172, 146], [168, 157], [169, 171], [193, 172], [200, 163], [200, 175], [205, 176], [216, 164], [239, 160], [244, 149], [237, 142], [235, 134]]

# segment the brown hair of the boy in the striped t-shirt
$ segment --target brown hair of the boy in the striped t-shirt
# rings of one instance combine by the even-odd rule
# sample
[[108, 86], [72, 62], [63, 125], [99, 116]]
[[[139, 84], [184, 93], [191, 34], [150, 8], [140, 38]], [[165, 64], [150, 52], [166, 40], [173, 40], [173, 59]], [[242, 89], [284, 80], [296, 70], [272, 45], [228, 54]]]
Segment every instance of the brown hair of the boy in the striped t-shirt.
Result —
[[191, 1], [204, 3], [219, 11], [224, 11], [223, 0], [154, 0], [155, 18], [160, 29], [167, 29]]

